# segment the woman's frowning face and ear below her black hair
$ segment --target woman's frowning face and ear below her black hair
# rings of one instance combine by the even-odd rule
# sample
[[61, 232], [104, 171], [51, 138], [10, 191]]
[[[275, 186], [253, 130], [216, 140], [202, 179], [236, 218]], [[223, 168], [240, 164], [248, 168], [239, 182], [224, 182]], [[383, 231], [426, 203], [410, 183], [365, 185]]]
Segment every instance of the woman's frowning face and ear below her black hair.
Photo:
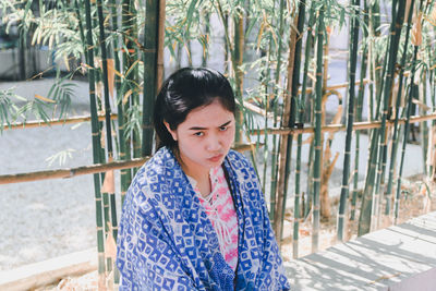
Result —
[[165, 124], [189, 172], [208, 172], [221, 165], [234, 140], [234, 116], [218, 99], [193, 109], [174, 131]]

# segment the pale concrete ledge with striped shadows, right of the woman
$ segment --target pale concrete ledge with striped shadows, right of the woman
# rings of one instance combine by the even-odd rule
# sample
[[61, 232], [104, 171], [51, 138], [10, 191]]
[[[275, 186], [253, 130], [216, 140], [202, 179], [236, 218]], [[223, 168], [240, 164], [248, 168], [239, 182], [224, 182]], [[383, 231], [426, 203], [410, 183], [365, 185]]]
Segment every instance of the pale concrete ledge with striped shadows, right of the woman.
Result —
[[436, 290], [436, 213], [284, 266], [292, 290]]

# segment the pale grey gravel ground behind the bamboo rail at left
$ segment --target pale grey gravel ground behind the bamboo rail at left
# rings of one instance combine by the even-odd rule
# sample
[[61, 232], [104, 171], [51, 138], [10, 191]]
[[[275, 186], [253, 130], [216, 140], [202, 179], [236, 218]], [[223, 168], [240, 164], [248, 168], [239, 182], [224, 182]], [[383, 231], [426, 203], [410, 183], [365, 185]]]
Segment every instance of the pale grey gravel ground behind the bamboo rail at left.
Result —
[[[87, 84], [77, 84], [76, 114], [87, 114]], [[16, 87], [21, 96], [47, 96], [52, 80], [1, 84]], [[32, 95], [32, 96], [31, 96]], [[81, 96], [81, 97], [78, 97]], [[77, 167], [92, 163], [89, 123], [26, 130], [7, 130], [0, 135], [0, 174]], [[71, 154], [51, 166], [49, 157]], [[93, 247], [95, 243], [94, 185], [90, 175], [0, 186], [3, 235], [0, 270]]]

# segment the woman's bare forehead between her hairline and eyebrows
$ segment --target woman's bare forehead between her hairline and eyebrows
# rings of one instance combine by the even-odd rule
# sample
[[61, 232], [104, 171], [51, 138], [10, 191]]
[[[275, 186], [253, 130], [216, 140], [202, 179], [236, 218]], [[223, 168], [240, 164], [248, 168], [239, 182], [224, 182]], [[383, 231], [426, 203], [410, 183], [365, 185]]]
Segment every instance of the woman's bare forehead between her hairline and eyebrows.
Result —
[[233, 112], [227, 110], [221, 102], [216, 99], [209, 105], [193, 109], [180, 125], [219, 126], [233, 119]]

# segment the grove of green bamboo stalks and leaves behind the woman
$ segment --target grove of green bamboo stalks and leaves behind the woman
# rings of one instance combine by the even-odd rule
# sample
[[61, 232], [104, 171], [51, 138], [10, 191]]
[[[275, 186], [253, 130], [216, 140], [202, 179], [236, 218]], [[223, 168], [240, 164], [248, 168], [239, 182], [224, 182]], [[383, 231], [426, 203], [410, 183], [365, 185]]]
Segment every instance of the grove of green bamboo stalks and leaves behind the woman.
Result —
[[[362, 235], [383, 221], [397, 222], [411, 132], [420, 135], [427, 192], [436, 180], [436, 120], [410, 122], [436, 112], [434, 0], [2, 0], [1, 10], [3, 25], [16, 26], [24, 44], [48, 47], [70, 69], [53, 85], [58, 94], [36, 101], [66, 105], [64, 118], [71, 96], [62, 89], [76, 74], [88, 77], [94, 163], [153, 154], [153, 100], [165, 75], [183, 65], [222, 71], [239, 104], [235, 146], [252, 145], [246, 154], [280, 239], [286, 210], [292, 209], [293, 257], [304, 221], [312, 221], [313, 252], [323, 219], [337, 218], [339, 241], [350, 238], [352, 225]], [[340, 51], [347, 62], [344, 97], [329, 81], [329, 44], [341, 31], [349, 44]], [[71, 62], [78, 65], [70, 68]], [[2, 123], [29, 112], [44, 119], [48, 110], [35, 104], [16, 108], [11, 98], [0, 95]], [[338, 104], [334, 113], [327, 111], [331, 100]], [[380, 125], [353, 130], [364, 121]], [[342, 153], [335, 156], [335, 133], [323, 131], [329, 123], [347, 129]], [[298, 132], [304, 128], [313, 133]], [[277, 129], [287, 131], [272, 133]], [[331, 214], [328, 183], [335, 168], [341, 169], [341, 189]], [[113, 171], [94, 174], [101, 289], [118, 283], [117, 201], [122, 203], [134, 174], [135, 169], [122, 170], [119, 190]]]

